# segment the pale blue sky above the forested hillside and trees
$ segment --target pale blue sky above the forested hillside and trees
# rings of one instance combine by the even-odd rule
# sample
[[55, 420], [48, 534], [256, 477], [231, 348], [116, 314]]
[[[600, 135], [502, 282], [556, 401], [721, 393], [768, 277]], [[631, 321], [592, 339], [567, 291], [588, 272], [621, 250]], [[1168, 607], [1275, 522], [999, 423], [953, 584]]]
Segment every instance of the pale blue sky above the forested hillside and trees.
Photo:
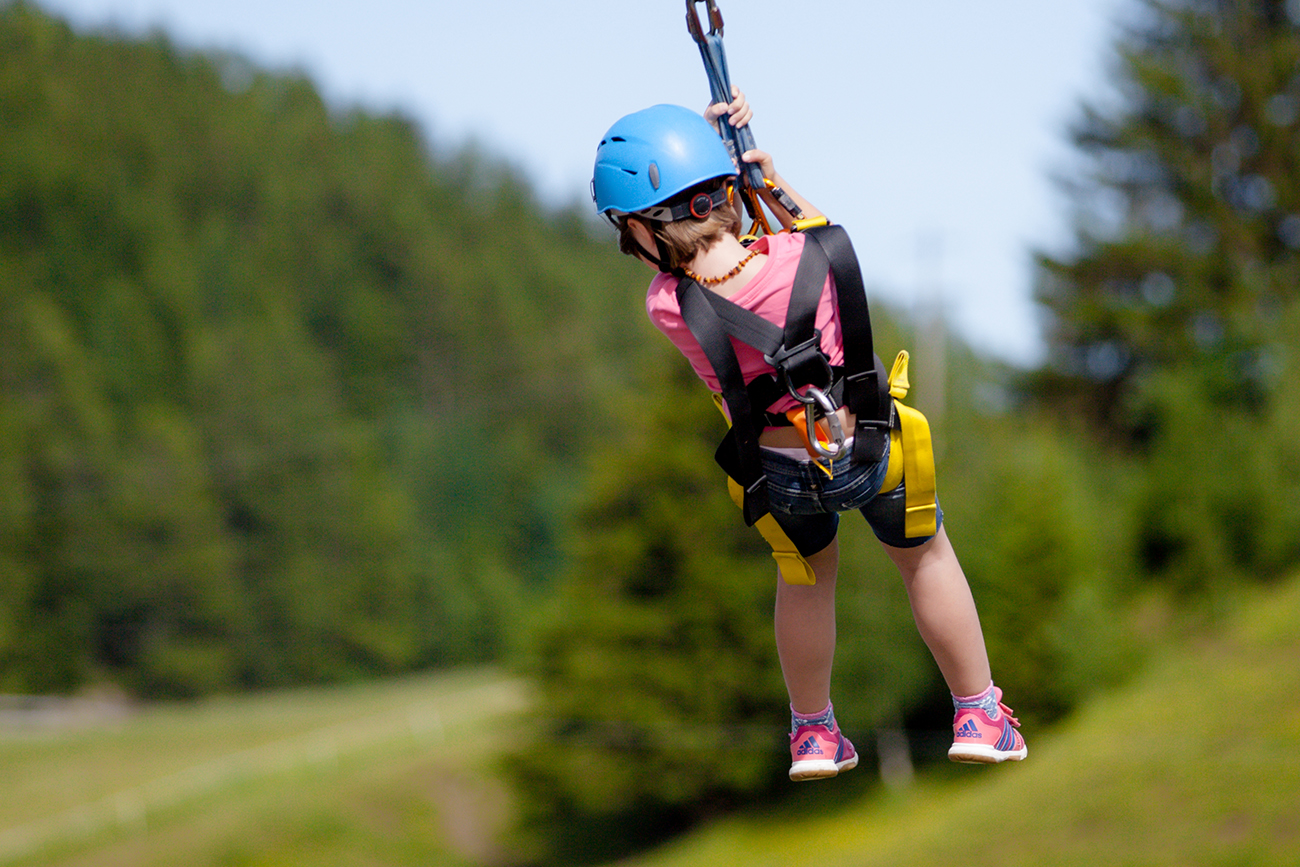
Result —
[[[160, 29], [302, 70], [335, 105], [400, 110], [439, 147], [478, 142], [551, 204], [585, 200], [620, 116], [708, 101], [681, 0], [38, 1], [79, 29]], [[1031, 253], [1070, 237], [1052, 175], [1075, 159], [1080, 97], [1109, 92], [1114, 19], [1136, 0], [718, 5], [758, 146], [849, 229], [874, 295], [939, 303], [978, 348], [1040, 359]]]

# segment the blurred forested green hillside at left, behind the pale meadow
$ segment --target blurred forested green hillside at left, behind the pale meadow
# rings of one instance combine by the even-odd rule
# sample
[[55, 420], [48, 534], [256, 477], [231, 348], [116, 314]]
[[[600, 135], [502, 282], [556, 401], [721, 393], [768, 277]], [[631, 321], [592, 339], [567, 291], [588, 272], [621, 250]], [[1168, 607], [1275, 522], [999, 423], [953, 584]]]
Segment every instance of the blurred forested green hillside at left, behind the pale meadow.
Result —
[[400, 117], [26, 4], [0, 117], [0, 689], [497, 659], [640, 367], [628, 264]]

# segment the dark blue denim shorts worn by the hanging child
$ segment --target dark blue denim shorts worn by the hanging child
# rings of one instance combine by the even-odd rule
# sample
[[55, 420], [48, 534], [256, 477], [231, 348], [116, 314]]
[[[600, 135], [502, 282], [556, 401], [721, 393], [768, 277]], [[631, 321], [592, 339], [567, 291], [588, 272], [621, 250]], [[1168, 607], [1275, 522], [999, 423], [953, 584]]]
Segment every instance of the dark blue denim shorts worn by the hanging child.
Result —
[[[763, 472], [767, 473], [767, 498], [772, 517], [794, 542], [800, 554], [816, 554], [832, 541], [840, 528], [840, 512], [858, 510], [867, 519], [876, 538], [892, 547], [915, 547], [933, 536], [907, 538], [905, 484], [892, 491], [879, 493], [889, 464], [889, 450], [872, 464], [854, 464], [852, 455], [831, 464], [828, 478], [811, 460], [796, 460], [776, 451], [762, 450]], [[944, 512], [935, 502], [935, 528], [942, 525]]]

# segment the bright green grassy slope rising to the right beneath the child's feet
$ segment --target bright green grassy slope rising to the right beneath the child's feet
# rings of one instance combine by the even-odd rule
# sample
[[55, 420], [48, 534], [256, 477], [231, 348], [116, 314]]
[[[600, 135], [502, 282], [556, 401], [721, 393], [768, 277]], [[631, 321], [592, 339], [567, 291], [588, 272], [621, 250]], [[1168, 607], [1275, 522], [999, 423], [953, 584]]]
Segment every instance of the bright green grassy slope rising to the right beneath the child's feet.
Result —
[[[719, 823], [636, 867], [1300, 863], [1300, 581], [1035, 736], [1019, 766]], [[836, 785], [833, 781], [820, 785]], [[628, 866], [630, 867], [630, 864]]]

